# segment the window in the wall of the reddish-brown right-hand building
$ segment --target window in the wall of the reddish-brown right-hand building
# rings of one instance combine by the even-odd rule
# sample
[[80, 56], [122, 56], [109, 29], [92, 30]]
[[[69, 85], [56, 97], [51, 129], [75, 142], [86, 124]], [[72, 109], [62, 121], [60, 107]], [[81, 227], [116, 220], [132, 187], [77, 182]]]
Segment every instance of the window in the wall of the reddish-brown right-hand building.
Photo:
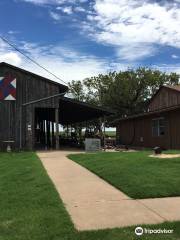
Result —
[[165, 135], [164, 118], [156, 118], [152, 120], [152, 135], [153, 137], [160, 137]]

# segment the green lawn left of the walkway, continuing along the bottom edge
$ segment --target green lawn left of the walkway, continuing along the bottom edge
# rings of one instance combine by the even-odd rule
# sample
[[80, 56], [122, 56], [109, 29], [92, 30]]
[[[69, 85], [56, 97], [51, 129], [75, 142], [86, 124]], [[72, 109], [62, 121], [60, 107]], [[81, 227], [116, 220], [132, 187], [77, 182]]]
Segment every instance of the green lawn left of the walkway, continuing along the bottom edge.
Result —
[[[174, 234], [141, 239], [180, 239], [180, 222], [146, 227], [174, 229]], [[133, 239], [139, 239], [134, 227], [76, 231], [35, 153], [0, 153], [0, 240]]]

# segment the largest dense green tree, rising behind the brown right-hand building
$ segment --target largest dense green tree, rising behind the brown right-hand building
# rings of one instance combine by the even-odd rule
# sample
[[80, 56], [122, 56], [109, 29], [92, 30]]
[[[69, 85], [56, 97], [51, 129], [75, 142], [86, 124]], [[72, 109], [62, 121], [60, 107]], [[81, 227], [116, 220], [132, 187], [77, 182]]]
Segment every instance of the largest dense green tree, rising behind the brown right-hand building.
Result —
[[131, 115], [146, 110], [150, 98], [162, 85], [176, 85], [179, 75], [166, 74], [159, 70], [138, 68], [116, 73], [105, 98], [105, 104], [119, 116]]

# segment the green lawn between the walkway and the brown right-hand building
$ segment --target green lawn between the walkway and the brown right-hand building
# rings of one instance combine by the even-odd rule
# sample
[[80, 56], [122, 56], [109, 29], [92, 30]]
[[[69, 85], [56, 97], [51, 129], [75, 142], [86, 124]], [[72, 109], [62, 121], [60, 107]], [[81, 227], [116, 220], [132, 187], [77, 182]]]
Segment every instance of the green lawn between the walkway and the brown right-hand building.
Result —
[[149, 151], [96, 153], [69, 158], [132, 198], [180, 196], [180, 158], [151, 158], [149, 154]]

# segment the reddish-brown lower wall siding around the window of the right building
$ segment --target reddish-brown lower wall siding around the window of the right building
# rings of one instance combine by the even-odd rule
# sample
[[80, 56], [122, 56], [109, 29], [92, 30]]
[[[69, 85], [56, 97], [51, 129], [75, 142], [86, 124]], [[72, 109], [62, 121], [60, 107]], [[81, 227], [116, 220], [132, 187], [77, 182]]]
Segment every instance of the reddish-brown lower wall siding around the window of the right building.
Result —
[[[154, 137], [152, 135], [152, 120], [160, 117], [165, 119], [165, 135]], [[180, 149], [179, 123], [180, 110], [122, 120], [117, 126], [117, 140], [122, 145]]]

